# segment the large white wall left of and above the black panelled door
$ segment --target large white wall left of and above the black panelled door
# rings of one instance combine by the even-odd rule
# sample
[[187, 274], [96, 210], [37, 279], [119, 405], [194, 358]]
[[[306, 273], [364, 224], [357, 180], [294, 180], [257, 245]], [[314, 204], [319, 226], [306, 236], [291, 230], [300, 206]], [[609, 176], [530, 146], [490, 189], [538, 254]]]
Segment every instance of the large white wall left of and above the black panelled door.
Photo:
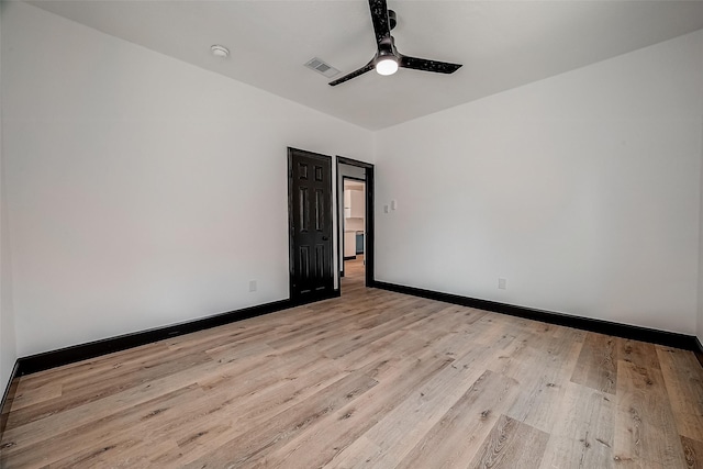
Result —
[[19, 355], [288, 298], [287, 146], [369, 160], [371, 134], [31, 5], [4, 8]]

